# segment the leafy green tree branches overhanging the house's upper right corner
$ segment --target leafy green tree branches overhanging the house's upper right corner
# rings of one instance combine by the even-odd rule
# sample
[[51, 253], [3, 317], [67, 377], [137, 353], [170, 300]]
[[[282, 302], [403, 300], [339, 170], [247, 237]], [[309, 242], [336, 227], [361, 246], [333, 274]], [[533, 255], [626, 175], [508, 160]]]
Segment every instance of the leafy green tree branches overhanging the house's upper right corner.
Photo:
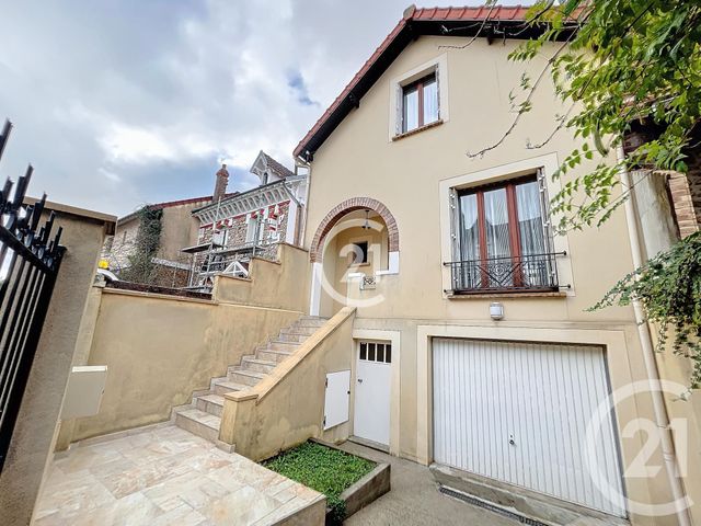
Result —
[[[561, 125], [582, 145], [556, 175], [597, 160], [593, 171], [563, 184], [553, 213], [563, 215], [565, 228], [599, 226], [627, 197], [614, 197], [623, 167], [687, 170], [683, 150], [701, 115], [701, 2], [540, 0], [530, 13], [531, 23], [548, 28], [513, 59], [530, 60], [547, 42], [571, 35], [549, 67], [570, 106]], [[579, 28], [571, 33], [574, 25]], [[656, 126], [659, 136], [618, 164], [604, 159], [640, 121]]]

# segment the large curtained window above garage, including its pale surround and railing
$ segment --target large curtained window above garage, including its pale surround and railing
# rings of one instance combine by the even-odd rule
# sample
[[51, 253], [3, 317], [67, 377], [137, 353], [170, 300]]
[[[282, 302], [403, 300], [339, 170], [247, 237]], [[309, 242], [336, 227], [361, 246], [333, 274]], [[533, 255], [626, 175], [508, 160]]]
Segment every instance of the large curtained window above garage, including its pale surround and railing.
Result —
[[440, 182], [443, 288], [447, 296], [574, 295], [566, 235], [556, 235], [549, 195], [558, 156], [504, 164]]

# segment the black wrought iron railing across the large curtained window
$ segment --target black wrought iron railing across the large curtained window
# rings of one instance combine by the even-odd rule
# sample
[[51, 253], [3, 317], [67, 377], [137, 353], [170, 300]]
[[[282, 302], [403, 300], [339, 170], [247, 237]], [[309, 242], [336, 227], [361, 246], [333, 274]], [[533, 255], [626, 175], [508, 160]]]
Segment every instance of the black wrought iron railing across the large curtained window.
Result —
[[450, 267], [452, 288], [448, 291], [481, 294], [558, 290], [558, 255], [565, 255], [565, 252], [444, 263]]

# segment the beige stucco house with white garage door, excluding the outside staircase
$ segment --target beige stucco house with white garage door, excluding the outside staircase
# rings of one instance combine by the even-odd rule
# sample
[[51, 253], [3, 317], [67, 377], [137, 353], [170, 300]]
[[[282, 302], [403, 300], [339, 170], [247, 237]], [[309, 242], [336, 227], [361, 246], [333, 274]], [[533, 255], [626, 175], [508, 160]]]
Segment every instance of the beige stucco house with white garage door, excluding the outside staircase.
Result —
[[576, 141], [528, 146], [565, 111], [548, 78], [512, 126], [509, 93], [547, 60], [509, 61], [524, 16], [409, 8], [295, 150], [310, 171], [309, 313], [356, 308], [346, 431], [472, 489], [691, 524], [698, 446], [662, 455], [641, 427], [664, 427], [673, 403], [648, 392], [647, 328], [633, 308], [587, 311], [634, 267], [634, 216], [552, 228], [552, 175]]

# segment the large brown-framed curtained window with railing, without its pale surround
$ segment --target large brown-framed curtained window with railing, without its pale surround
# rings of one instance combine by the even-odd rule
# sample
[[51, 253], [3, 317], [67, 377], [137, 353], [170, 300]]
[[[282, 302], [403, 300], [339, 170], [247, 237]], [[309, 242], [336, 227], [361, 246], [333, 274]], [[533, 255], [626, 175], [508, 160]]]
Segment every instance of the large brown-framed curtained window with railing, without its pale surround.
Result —
[[453, 293], [558, 288], [543, 193], [536, 175], [458, 192]]

